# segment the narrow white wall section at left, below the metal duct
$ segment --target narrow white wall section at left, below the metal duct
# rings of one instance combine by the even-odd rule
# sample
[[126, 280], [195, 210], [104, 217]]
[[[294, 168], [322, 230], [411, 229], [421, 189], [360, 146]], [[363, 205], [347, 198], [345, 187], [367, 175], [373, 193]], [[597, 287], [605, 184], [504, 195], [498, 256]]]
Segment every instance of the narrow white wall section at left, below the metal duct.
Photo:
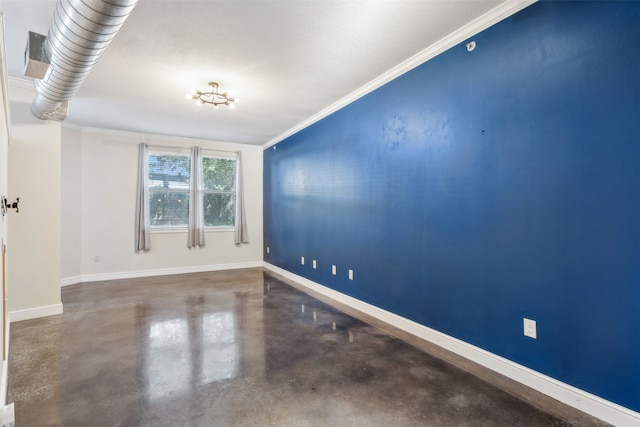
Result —
[[[8, 213], [7, 297], [11, 320], [62, 311], [60, 301], [61, 124], [36, 119], [34, 90], [10, 81], [11, 143]], [[20, 313], [30, 313], [22, 316]], [[39, 313], [39, 314], [38, 314]], [[15, 315], [15, 316], [14, 316]]]

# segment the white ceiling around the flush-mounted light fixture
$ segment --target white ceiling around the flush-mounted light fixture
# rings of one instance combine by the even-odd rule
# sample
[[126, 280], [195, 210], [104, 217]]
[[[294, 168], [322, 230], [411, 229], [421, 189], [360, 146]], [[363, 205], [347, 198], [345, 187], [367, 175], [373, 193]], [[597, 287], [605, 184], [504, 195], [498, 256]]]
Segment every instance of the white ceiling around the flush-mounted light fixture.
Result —
[[[81, 127], [265, 144], [505, 0], [140, 0], [69, 104]], [[55, 1], [2, 0], [8, 74]], [[185, 94], [217, 81], [234, 110]]]

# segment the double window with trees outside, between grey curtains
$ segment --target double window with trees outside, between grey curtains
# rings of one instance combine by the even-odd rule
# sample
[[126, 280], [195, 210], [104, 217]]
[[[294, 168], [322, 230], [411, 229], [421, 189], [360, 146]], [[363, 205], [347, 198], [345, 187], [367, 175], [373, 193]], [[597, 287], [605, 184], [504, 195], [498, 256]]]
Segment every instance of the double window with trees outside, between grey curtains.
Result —
[[188, 227], [189, 197], [202, 197], [205, 227], [235, 226], [235, 159], [203, 155], [200, 192], [190, 188], [191, 174], [196, 172], [189, 154], [150, 150], [147, 165], [152, 228]]

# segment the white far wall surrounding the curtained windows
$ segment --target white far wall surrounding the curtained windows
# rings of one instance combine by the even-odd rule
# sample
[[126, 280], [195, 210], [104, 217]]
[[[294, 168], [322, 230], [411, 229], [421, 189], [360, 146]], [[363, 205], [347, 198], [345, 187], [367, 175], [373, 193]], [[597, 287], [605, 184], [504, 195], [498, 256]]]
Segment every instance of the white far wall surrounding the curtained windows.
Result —
[[[138, 143], [242, 151], [250, 243], [233, 231], [206, 232], [204, 248], [187, 248], [186, 229], [152, 233], [151, 250], [134, 250]], [[63, 132], [63, 284], [261, 265], [262, 148], [129, 132]], [[79, 206], [79, 207], [78, 207]], [[78, 245], [77, 242], [80, 242]]]

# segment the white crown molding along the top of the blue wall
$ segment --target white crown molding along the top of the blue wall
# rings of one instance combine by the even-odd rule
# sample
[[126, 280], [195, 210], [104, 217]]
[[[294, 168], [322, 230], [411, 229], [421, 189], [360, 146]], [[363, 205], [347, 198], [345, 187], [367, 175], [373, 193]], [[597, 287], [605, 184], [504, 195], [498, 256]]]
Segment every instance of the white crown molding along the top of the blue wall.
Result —
[[267, 149], [283, 141], [284, 139], [290, 137], [291, 135], [300, 132], [304, 128], [311, 126], [312, 124], [320, 121], [321, 119], [327, 117], [332, 113], [335, 113], [341, 108], [351, 104], [353, 101], [362, 98], [363, 96], [367, 95], [370, 92], [373, 92], [374, 90], [385, 85], [386, 83], [389, 83], [390, 81], [392, 81], [393, 79], [396, 79], [402, 74], [405, 74], [406, 72], [416, 68], [417, 66], [424, 64], [425, 62], [429, 61], [432, 58], [435, 58], [436, 56], [452, 48], [458, 43], [463, 42], [469, 37], [473, 37], [479, 32], [486, 30], [492, 25], [497, 24], [503, 19], [508, 18], [509, 16], [521, 11], [522, 9], [532, 5], [533, 3], [536, 3], [537, 1], [538, 0], [507, 0], [506, 2], [495, 7], [494, 9], [485, 13], [484, 15], [474, 19], [467, 25], [454, 31], [448, 36], [440, 39], [439, 41], [427, 47], [423, 51], [417, 53], [416, 55], [405, 60], [404, 62], [401, 62], [397, 66], [385, 72], [384, 74], [376, 77], [375, 79], [373, 79], [366, 85], [362, 86], [361, 88], [355, 90], [354, 92], [351, 92], [349, 95], [345, 96], [344, 98], [331, 104], [327, 108], [314, 114], [308, 119], [300, 122], [296, 126], [286, 130], [284, 133], [281, 133], [275, 138], [269, 140], [267, 143], [265, 143], [262, 146], [262, 148]]

